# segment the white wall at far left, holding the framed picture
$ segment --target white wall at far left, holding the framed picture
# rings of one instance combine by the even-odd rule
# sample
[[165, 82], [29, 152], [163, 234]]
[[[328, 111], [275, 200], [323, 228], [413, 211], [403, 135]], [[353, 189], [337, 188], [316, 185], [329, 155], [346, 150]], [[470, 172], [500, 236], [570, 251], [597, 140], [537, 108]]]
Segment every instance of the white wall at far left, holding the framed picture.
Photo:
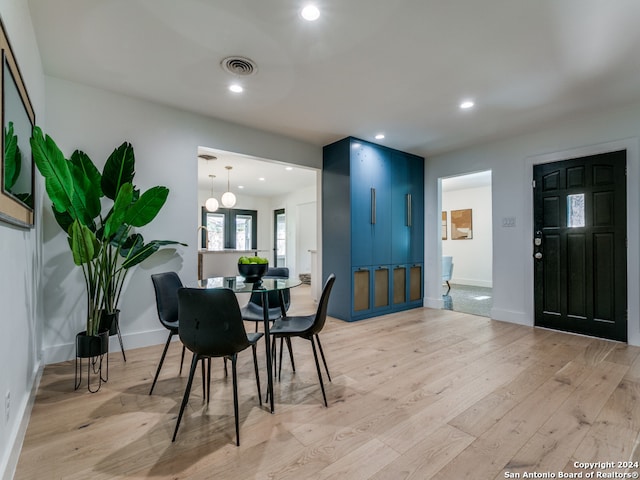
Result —
[[[44, 117], [44, 75], [27, 2], [0, 0], [2, 22], [25, 81], [36, 120]], [[11, 478], [29, 418], [30, 394], [42, 356], [42, 183], [36, 181], [35, 228], [0, 222], [0, 477]], [[5, 398], [9, 394], [9, 417]]]

